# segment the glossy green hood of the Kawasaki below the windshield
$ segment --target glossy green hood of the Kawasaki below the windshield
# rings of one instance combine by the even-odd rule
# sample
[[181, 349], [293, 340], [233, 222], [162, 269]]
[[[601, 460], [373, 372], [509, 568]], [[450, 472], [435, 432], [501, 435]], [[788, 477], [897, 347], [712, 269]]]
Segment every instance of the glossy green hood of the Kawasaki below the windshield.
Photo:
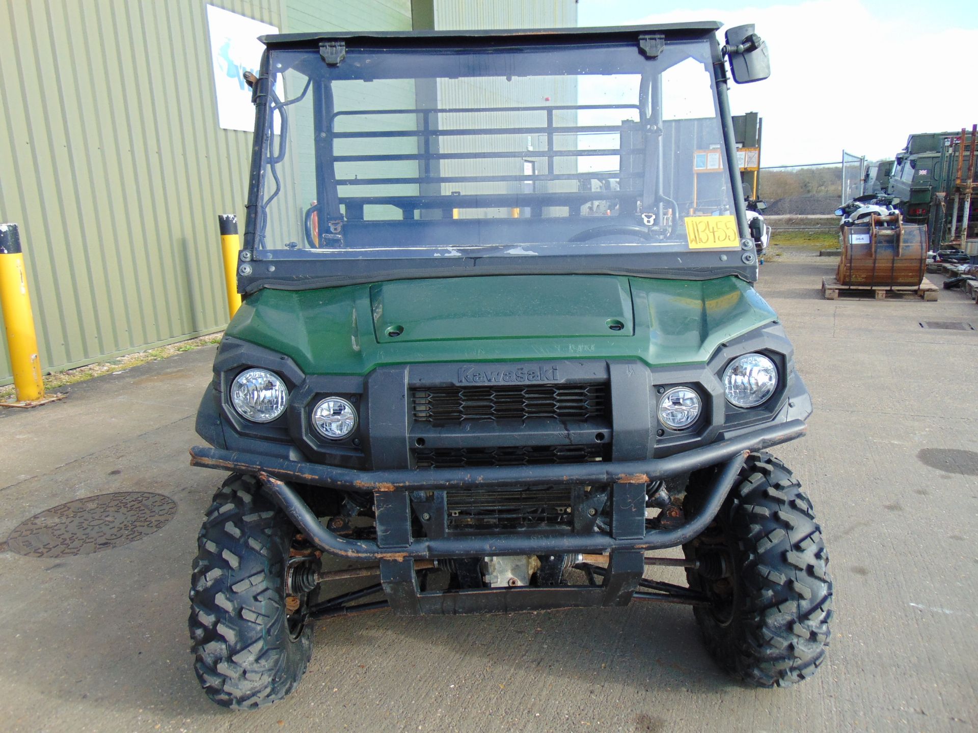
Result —
[[265, 288], [227, 333], [288, 355], [307, 374], [575, 358], [664, 367], [705, 363], [720, 344], [776, 320], [733, 277], [499, 276]]

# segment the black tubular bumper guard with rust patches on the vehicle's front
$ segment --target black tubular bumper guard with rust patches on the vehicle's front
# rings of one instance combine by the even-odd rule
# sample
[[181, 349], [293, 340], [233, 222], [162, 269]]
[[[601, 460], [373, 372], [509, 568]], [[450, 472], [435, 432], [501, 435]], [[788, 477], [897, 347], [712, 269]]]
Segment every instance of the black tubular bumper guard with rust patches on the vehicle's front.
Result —
[[[191, 464], [257, 476], [270, 496], [307, 539], [325, 552], [375, 560], [435, 559], [484, 555], [652, 550], [673, 547], [699, 535], [730, 493], [747, 453], [799, 438], [800, 419], [767, 425], [709, 446], [664, 458], [592, 463], [358, 471], [215, 448], [191, 449]], [[680, 527], [645, 531], [645, 486], [698, 468], [722, 464], [699, 513]], [[371, 492], [377, 509], [378, 540], [339, 537], [323, 526], [287, 482]], [[583, 535], [522, 532], [447, 538], [412, 538], [413, 491], [491, 489], [518, 486], [611, 485], [609, 533]]]

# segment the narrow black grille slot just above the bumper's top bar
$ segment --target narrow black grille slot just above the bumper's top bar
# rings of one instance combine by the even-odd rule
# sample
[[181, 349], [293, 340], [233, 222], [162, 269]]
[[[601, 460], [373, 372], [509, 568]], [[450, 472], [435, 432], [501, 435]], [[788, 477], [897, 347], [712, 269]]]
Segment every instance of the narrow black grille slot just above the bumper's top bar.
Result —
[[419, 468], [478, 468], [532, 466], [550, 463], [585, 463], [607, 460], [609, 445], [505, 446], [499, 448], [416, 448]]

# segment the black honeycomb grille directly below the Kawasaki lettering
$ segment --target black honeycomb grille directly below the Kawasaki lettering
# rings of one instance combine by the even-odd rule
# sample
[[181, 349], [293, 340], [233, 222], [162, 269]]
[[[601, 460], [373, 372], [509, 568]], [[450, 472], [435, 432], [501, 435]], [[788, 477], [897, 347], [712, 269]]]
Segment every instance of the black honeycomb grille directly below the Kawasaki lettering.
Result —
[[608, 387], [606, 383], [429, 387], [416, 389], [413, 403], [415, 420], [433, 425], [527, 417], [587, 420], [607, 414]]

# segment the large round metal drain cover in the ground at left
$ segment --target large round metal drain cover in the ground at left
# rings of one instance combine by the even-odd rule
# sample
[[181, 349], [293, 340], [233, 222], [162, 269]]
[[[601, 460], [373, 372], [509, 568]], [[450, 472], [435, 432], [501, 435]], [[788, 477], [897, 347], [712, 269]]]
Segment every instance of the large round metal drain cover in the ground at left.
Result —
[[177, 513], [169, 496], [117, 492], [88, 496], [35, 514], [7, 538], [28, 557], [72, 557], [119, 547], [161, 530]]

